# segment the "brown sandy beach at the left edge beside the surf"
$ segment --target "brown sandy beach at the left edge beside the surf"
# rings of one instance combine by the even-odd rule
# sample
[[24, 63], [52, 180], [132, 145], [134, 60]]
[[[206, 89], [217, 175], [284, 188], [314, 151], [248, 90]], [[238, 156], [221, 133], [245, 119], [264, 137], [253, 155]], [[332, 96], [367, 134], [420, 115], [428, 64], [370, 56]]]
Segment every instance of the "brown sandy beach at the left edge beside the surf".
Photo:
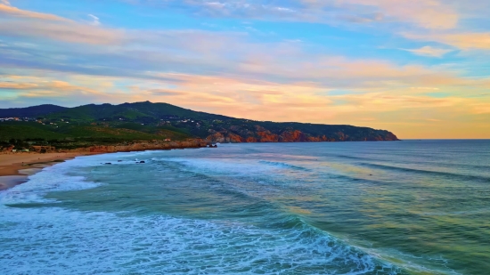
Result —
[[0, 154], [0, 190], [26, 182], [30, 174], [64, 160], [82, 156], [80, 153], [8, 153]]

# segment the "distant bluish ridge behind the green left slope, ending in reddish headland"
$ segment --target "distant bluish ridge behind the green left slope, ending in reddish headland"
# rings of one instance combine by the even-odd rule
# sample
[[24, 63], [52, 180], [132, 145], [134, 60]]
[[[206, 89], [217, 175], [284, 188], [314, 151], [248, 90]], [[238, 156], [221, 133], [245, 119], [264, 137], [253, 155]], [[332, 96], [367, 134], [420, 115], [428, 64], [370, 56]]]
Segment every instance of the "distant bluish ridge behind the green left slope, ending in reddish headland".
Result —
[[[73, 108], [46, 104], [23, 109], [0, 109], [0, 117], [29, 117], [44, 125], [54, 124], [57, 126], [51, 131], [55, 133], [68, 131], [66, 123], [70, 126], [105, 128], [108, 132], [109, 128], [113, 128], [149, 133], [153, 138], [161, 131], [176, 132], [210, 142], [398, 141], [394, 133], [370, 127], [257, 121], [150, 101], [117, 105], [86, 104]], [[90, 135], [87, 133], [87, 136]]]

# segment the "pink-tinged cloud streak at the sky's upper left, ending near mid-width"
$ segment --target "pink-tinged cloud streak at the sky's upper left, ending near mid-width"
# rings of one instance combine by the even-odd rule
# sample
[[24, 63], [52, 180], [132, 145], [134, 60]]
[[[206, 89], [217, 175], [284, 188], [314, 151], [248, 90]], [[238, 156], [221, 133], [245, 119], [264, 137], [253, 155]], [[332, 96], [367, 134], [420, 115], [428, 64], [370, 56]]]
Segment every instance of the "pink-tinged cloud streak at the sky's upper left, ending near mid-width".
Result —
[[[0, 4], [0, 8], [2, 4]], [[165, 46], [166, 44], [187, 44], [196, 50], [206, 51], [208, 48], [225, 48], [232, 42], [233, 36], [246, 34], [222, 33], [200, 30], [167, 30], [149, 31], [144, 29], [123, 30], [104, 28], [98, 17], [88, 14], [90, 24], [82, 24], [73, 20], [61, 18], [48, 13], [29, 12], [12, 8], [20, 14], [29, 14], [30, 19], [38, 20], [32, 23], [28, 20], [7, 20], [0, 24], [0, 36], [37, 37], [44, 40], [54, 40], [74, 44], [145, 44]], [[0, 10], [1, 12], [1, 10]], [[64, 20], [62, 24], [45, 19]], [[2, 19], [0, 19], [1, 22]], [[194, 40], [191, 42], [190, 40]]]

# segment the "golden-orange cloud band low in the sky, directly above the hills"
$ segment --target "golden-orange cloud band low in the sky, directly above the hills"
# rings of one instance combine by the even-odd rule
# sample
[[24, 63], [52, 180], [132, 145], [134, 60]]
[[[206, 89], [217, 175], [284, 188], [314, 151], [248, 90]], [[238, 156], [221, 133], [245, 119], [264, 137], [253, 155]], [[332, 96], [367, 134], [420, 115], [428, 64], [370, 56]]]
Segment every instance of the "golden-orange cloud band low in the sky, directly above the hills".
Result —
[[[484, 121], [490, 119], [490, 96], [468, 98], [466, 94], [454, 93], [435, 98], [424, 93], [439, 90], [426, 86], [328, 95], [328, 88], [314, 83], [279, 84], [246, 77], [160, 75], [168, 80], [132, 78], [132, 85], [121, 87], [114, 85], [122, 80], [119, 77], [62, 76], [44, 72], [42, 77], [4, 76], [6, 81], [0, 83], [0, 87], [19, 91], [16, 98], [10, 100], [12, 102], [55, 100], [66, 105], [63, 102], [164, 101], [184, 108], [256, 120], [366, 125], [391, 130], [402, 138], [490, 137], [490, 128], [484, 126]], [[17, 83], [12, 84], [13, 80]], [[125, 82], [128, 80], [124, 78]], [[447, 89], [453, 88], [441, 88], [440, 92], [451, 92]], [[468, 121], [461, 123], [460, 117], [468, 117]], [[454, 127], [460, 127], [461, 131]]]

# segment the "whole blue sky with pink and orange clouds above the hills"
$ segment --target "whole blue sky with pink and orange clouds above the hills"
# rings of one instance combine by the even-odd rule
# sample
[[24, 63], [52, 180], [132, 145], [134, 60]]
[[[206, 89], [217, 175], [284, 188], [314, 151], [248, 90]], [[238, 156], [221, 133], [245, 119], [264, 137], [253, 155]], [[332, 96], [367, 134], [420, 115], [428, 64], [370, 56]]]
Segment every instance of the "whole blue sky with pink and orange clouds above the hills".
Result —
[[152, 101], [488, 139], [488, 14], [488, 0], [0, 0], [0, 108]]

